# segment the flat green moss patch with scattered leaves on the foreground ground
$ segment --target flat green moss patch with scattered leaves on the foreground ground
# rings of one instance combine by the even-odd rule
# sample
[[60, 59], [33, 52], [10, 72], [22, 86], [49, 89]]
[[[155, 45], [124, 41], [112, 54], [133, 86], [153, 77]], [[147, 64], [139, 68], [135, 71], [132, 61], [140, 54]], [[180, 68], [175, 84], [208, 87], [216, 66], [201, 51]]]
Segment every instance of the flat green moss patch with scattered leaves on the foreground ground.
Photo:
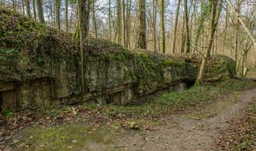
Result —
[[[107, 126], [95, 128], [77, 124], [60, 127], [32, 127], [23, 132], [24, 142], [20, 143], [19, 148], [22, 150], [70, 150], [67, 146], [72, 146], [72, 150], [80, 150], [81, 147], [87, 146], [87, 143], [109, 145], [115, 141], [111, 132], [111, 127]], [[25, 148], [28, 141], [30, 145]]]

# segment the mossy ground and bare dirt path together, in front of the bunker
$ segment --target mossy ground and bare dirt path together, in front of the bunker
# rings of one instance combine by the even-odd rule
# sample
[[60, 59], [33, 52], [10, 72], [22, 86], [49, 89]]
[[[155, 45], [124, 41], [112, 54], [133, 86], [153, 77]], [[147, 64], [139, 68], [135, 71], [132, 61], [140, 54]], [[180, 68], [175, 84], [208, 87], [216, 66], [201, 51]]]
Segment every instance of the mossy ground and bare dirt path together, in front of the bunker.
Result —
[[[256, 75], [249, 77], [255, 79]], [[30, 124], [2, 137], [0, 150], [222, 150], [223, 144], [217, 142], [228, 135], [225, 130], [229, 121], [241, 118], [241, 110], [255, 102], [255, 96], [256, 88], [232, 91], [204, 108], [155, 120], [111, 120], [88, 125], [81, 118], [78, 123], [57, 126]], [[76, 110], [72, 113], [76, 115]]]

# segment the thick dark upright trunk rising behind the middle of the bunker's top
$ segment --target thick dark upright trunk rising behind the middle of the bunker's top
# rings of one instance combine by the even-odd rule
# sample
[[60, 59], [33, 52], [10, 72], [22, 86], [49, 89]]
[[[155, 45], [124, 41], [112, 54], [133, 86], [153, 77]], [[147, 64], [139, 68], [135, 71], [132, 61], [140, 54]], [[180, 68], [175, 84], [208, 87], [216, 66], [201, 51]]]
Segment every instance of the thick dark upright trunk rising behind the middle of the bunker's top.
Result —
[[139, 0], [139, 49], [147, 49], [146, 28], [146, 1]]

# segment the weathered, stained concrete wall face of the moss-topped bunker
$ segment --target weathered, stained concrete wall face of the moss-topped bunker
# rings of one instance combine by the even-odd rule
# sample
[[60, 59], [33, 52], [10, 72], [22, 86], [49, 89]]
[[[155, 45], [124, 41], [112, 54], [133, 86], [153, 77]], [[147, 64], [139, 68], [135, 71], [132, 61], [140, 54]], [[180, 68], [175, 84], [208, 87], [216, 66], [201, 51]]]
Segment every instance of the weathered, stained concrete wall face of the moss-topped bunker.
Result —
[[[195, 81], [199, 64], [200, 62], [190, 59], [179, 66], [169, 65], [163, 71], [163, 80], [152, 79], [148, 83], [140, 83], [142, 79], [126, 77], [128, 72], [135, 71], [135, 62], [132, 60], [87, 61], [84, 66], [86, 92], [83, 94], [83, 101], [99, 105], [122, 105], [158, 90], [185, 90], [187, 81]], [[220, 62], [214, 65], [220, 65]], [[214, 65], [207, 68], [206, 80], [232, 77], [228, 68], [222, 71], [217, 69], [217, 72]], [[0, 71], [2, 109], [27, 105], [67, 105], [81, 101], [79, 71], [70, 70], [65, 61], [40, 66], [20, 59], [17, 65], [1, 62]]]

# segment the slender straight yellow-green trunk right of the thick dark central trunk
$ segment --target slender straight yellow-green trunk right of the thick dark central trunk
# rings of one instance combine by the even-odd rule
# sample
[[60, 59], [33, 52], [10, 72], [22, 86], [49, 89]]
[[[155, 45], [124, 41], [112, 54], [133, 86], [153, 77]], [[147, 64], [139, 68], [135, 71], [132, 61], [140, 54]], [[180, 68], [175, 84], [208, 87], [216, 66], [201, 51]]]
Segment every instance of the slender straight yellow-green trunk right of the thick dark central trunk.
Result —
[[165, 53], [165, 0], [161, 0], [161, 50]]

